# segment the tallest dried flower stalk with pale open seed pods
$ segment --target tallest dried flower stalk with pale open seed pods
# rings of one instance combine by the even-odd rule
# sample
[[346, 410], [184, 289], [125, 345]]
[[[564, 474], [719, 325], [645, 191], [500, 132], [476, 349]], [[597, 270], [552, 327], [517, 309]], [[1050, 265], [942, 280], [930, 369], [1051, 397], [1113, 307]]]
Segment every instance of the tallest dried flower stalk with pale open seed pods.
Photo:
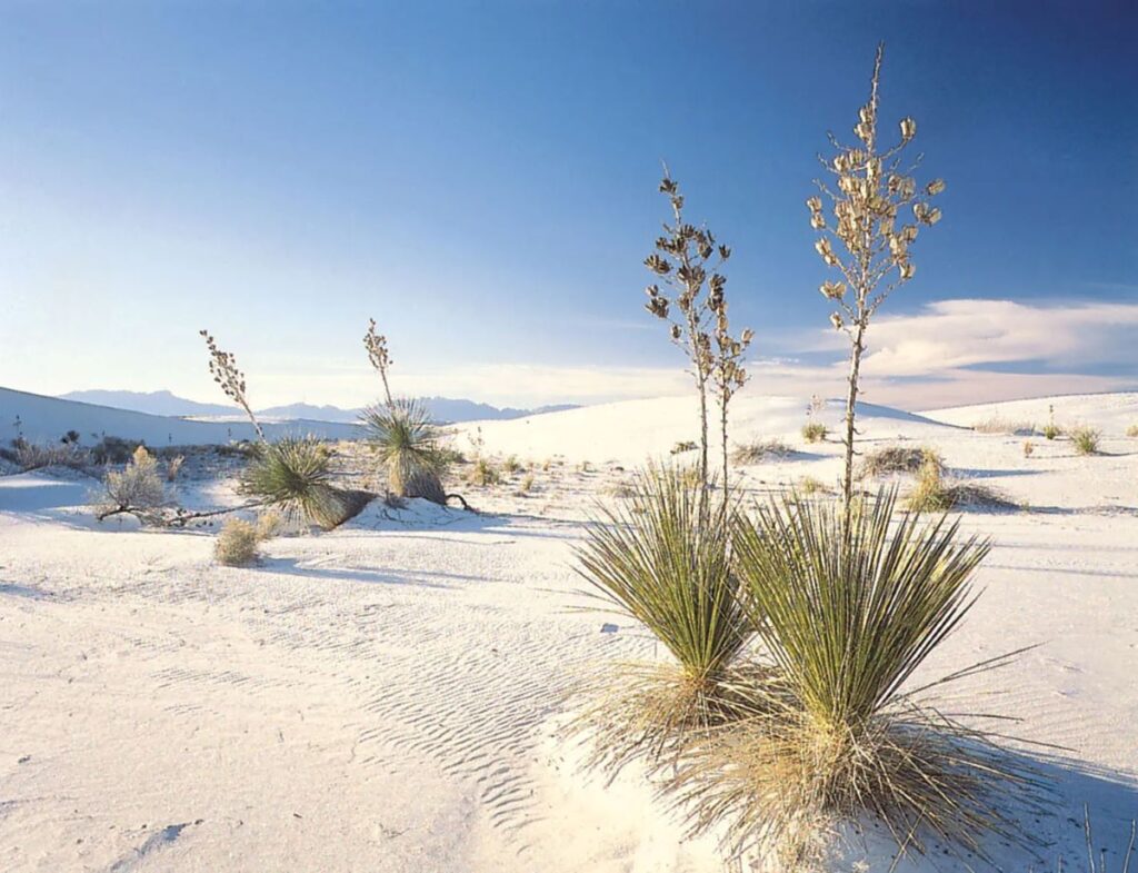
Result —
[[[836, 178], [836, 191], [816, 180], [819, 191], [831, 201], [835, 224], [827, 224], [822, 197], [814, 196], [806, 201], [810, 227], [822, 231], [815, 248], [826, 266], [836, 269], [842, 277], [824, 282], [820, 291], [836, 305], [830, 316], [831, 323], [844, 331], [850, 340], [842, 483], [847, 509], [852, 500], [855, 414], [865, 332], [890, 293], [916, 272], [909, 246], [916, 240], [920, 225], [932, 227], [940, 221], [940, 209], [930, 205], [930, 199], [945, 190], [940, 179], [917, 187], [913, 173], [921, 164], [920, 155], [905, 165], [905, 149], [917, 132], [913, 118], [901, 120], [899, 142], [889, 147], [879, 143], [877, 87], [883, 52], [884, 43], [877, 46], [869, 101], [860, 108], [853, 127], [858, 145], [847, 146], [827, 134], [836, 155], [830, 160], [818, 158]], [[912, 222], [904, 223], [909, 214]]]

